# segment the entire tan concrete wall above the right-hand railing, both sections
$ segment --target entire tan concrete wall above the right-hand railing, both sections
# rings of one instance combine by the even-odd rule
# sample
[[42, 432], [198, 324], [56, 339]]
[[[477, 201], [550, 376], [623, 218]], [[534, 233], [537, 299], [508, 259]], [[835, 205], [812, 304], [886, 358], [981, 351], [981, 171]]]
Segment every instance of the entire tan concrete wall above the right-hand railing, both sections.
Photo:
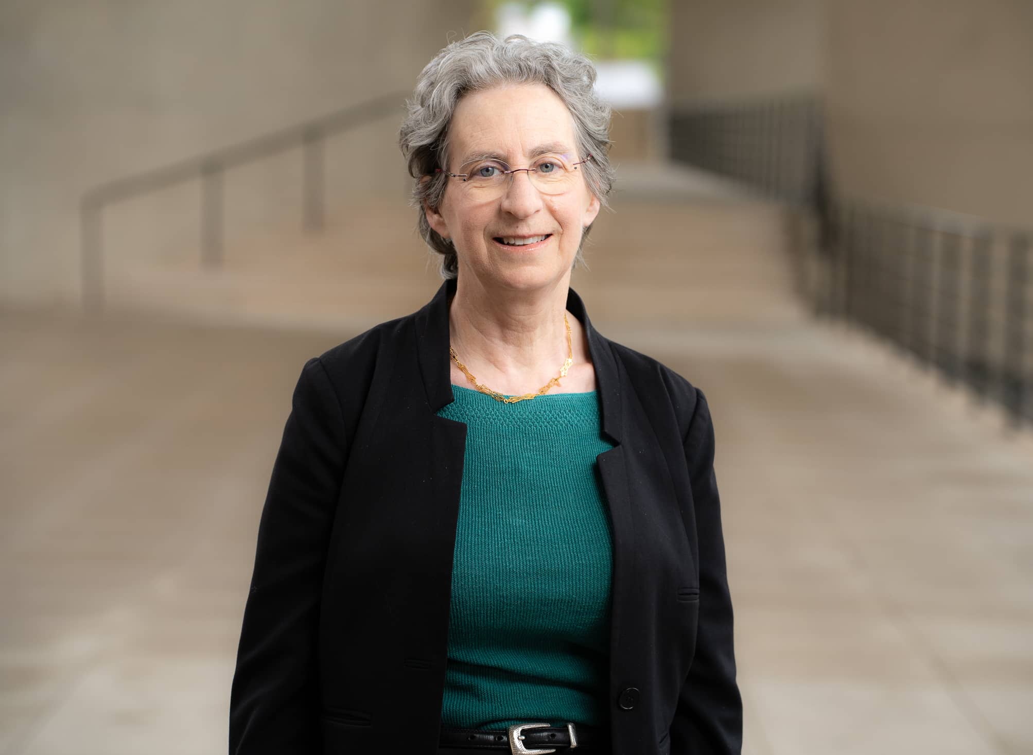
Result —
[[672, 109], [821, 94], [843, 194], [1033, 226], [1030, 0], [674, 0]]

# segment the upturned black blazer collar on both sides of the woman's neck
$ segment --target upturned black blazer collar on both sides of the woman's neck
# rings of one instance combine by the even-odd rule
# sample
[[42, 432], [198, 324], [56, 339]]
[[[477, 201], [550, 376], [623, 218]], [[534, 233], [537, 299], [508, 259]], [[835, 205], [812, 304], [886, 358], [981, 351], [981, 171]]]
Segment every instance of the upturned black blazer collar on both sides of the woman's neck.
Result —
[[[448, 300], [456, 293], [456, 279], [441, 284], [438, 292], [416, 313], [416, 349], [419, 369], [431, 411], [456, 400], [449, 375]], [[596, 390], [602, 412], [602, 431], [614, 443], [621, 441], [621, 381], [617, 359], [609, 341], [592, 326], [581, 296], [567, 290], [567, 310], [578, 320], [588, 334], [588, 349], [595, 366]]]

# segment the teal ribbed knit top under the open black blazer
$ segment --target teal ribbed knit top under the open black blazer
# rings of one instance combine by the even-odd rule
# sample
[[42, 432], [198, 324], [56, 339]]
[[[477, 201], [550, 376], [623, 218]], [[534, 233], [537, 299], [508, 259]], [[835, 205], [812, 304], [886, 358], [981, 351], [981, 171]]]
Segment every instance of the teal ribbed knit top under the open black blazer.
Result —
[[598, 396], [503, 404], [453, 385], [465, 422], [442, 725], [605, 726], [609, 516]]

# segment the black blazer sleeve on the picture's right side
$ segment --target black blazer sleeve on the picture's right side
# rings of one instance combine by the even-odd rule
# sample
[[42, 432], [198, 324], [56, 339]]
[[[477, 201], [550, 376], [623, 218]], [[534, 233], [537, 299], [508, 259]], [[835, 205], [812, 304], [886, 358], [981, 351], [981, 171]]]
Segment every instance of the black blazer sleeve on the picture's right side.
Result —
[[714, 475], [714, 426], [699, 388], [685, 438], [699, 548], [696, 647], [670, 726], [671, 755], [738, 755], [743, 701], [735, 683], [731, 596]]

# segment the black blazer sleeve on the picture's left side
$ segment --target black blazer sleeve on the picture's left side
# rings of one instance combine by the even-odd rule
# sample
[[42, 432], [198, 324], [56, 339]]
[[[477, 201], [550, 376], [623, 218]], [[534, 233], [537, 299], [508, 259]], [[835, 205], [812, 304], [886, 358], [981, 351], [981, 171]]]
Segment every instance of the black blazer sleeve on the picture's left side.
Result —
[[321, 752], [319, 600], [343, 429], [337, 395], [313, 357], [294, 388], [258, 526], [230, 692], [230, 755]]

